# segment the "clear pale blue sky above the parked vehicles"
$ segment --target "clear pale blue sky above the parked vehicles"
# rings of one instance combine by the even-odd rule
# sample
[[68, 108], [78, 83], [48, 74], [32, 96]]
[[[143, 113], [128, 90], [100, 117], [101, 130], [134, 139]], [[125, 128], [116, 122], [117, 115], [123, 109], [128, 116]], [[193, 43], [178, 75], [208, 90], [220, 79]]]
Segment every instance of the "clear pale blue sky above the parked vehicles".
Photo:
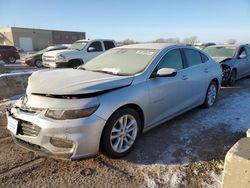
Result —
[[150, 41], [198, 36], [250, 43], [250, 0], [0, 0], [0, 27], [84, 31]]

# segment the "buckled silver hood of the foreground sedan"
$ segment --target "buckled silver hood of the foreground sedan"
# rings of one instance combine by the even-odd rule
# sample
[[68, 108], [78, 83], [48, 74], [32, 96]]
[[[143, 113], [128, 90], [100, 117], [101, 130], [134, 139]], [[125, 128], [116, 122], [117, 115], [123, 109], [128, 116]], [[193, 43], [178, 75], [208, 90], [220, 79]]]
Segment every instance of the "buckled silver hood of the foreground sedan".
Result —
[[116, 76], [81, 69], [41, 70], [29, 77], [27, 94], [93, 94], [128, 86], [133, 78], [133, 76]]

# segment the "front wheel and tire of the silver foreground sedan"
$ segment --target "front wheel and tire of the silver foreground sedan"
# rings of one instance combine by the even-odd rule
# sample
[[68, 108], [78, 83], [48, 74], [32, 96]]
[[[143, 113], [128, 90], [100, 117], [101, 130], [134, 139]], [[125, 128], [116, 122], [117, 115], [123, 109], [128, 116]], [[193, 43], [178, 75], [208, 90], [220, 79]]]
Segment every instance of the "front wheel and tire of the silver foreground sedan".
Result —
[[[134, 123], [131, 124], [131, 122]], [[129, 131], [129, 129], [131, 130]], [[101, 151], [111, 158], [124, 157], [132, 151], [140, 130], [141, 119], [136, 110], [132, 108], [118, 110], [104, 127], [100, 144]]]

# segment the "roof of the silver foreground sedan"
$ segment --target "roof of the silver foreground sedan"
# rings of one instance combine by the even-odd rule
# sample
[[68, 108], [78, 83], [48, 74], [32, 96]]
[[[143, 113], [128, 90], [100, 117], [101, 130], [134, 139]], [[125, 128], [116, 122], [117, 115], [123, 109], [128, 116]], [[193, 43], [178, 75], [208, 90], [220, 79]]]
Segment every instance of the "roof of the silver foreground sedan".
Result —
[[118, 48], [137, 48], [137, 49], [155, 49], [155, 50], [162, 50], [169, 46], [185, 46], [185, 45], [176, 45], [171, 43], [140, 43], [140, 44], [130, 44], [120, 46]]

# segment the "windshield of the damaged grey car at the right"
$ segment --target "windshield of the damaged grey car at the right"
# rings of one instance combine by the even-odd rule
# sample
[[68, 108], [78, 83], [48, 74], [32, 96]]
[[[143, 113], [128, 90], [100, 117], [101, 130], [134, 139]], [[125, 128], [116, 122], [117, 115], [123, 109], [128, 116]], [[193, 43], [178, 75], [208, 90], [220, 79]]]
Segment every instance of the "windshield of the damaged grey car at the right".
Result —
[[204, 49], [204, 52], [208, 53], [211, 57], [226, 57], [232, 58], [235, 54], [236, 47], [234, 46], [213, 46]]

